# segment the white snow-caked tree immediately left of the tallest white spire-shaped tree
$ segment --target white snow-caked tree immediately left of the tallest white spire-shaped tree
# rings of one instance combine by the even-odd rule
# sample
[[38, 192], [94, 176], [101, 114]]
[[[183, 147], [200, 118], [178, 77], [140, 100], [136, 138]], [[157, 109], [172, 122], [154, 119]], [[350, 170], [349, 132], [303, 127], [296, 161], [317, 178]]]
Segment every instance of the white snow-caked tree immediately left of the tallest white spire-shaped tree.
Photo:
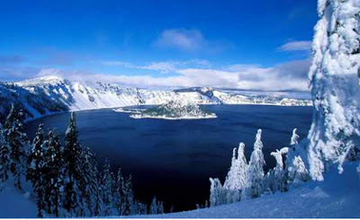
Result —
[[244, 151], [245, 144], [242, 142], [238, 145], [238, 156], [236, 148], [233, 149], [231, 167], [224, 182], [228, 203], [239, 201], [241, 190], [247, 186], [247, 158]]

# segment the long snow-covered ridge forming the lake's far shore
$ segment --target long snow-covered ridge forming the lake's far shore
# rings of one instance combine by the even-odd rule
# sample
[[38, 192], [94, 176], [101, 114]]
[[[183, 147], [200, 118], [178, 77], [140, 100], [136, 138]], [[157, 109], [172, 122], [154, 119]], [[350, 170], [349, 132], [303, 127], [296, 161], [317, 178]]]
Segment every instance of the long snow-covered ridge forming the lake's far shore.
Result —
[[160, 105], [172, 100], [196, 104], [311, 105], [303, 92], [246, 93], [212, 88], [148, 90], [124, 88], [117, 84], [79, 83], [59, 76], [44, 76], [14, 84], [0, 83], [0, 119], [11, 103], [20, 104], [28, 118], [66, 110], [93, 110], [133, 105]]

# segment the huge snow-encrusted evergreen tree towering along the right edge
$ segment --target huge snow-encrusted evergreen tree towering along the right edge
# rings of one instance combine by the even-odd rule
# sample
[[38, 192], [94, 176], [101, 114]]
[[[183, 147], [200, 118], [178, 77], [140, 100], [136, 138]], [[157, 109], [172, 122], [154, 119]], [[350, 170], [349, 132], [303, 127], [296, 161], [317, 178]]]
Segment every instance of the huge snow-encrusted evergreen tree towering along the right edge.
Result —
[[357, 0], [319, 0], [319, 22], [312, 44], [314, 113], [309, 132], [313, 180], [331, 163], [342, 164], [360, 145], [360, 4]]

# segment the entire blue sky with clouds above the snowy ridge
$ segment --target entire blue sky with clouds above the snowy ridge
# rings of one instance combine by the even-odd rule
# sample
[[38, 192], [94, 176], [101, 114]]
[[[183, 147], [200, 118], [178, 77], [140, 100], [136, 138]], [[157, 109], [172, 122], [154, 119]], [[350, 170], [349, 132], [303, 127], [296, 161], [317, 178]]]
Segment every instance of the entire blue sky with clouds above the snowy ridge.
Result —
[[316, 21], [314, 0], [6, 1], [0, 80], [306, 90]]

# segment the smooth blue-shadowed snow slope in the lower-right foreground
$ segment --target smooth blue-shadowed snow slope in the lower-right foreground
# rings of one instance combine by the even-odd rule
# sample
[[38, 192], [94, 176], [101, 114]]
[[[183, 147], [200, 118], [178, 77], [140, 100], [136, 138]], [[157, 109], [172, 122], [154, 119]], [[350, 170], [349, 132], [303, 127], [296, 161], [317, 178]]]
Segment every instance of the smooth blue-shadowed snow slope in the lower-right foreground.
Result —
[[[310, 181], [288, 192], [265, 195], [219, 207], [136, 218], [302, 218], [360, 217], [360, 181], [356, 163], [345, 171], [325, 174], [324, 181]], [[113, 216], [119, 217], [119, 216]]]

